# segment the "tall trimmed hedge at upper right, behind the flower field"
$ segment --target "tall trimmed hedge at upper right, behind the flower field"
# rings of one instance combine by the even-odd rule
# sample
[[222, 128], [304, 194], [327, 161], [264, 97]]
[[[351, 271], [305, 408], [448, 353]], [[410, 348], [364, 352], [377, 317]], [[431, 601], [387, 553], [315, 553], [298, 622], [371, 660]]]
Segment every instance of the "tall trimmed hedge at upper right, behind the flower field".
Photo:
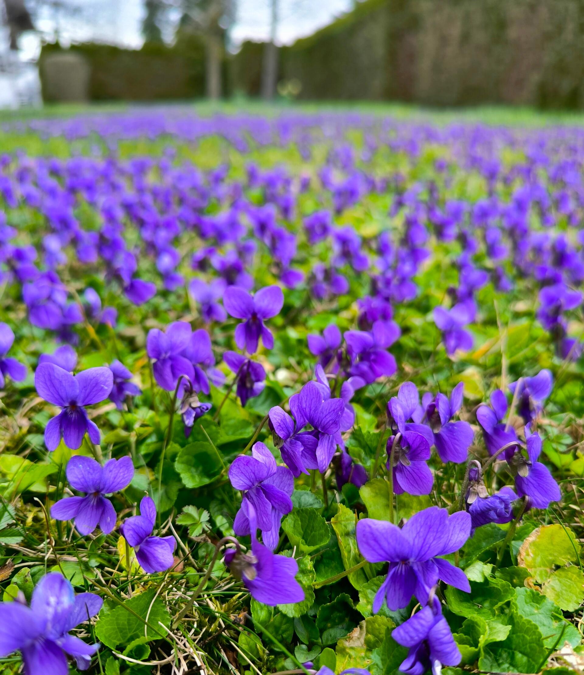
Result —
[[[238, 74], [259, 52], [234, 57], [236, 89], [258, 92]], [[584, 0], [365, 0], [281, 50], [292, 79], [300, 99], [583, 108]]]

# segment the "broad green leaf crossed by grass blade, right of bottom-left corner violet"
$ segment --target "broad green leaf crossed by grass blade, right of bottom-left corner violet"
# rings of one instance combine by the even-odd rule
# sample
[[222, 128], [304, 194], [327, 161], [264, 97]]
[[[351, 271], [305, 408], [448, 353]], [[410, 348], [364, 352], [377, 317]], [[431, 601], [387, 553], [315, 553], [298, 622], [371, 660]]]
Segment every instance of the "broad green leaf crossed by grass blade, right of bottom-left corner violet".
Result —
[[[110, 649], [116, 649], [117, 645], [128, 645], [141, 637], [150, 640], [165, 637], [166, 631], [159, 622], [170, 626], [170, 616], [160, 597], [155, 599], [156, 593], [157, 589], [150, 589], [134, 595], [124, 601], [124, 605], [117, 605], [109, 612], [102, 610], [95, 626], [97, 639]], [[144, 624], [148, 613], [149, 626]]]

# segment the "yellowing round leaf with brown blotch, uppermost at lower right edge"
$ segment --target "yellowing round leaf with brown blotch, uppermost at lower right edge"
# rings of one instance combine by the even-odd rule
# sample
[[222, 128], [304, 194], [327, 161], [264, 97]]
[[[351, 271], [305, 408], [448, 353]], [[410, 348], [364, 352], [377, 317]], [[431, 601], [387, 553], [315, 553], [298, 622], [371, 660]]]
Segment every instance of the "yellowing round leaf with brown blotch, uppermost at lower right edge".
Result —
[[542, 583], [552, 576], [554, 566], [575, 562], [579, 548], [576, 535], [569, 528], [564, 529], [559, 524], [542, 525], [525, 539], [517, 562]]

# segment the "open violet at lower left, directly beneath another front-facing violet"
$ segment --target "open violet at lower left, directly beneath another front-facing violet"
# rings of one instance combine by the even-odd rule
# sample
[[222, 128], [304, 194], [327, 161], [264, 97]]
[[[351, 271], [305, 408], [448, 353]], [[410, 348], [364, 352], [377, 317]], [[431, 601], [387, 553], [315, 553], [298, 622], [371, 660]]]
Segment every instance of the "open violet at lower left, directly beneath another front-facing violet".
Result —
[[92, 533], [98, 523], [101, 531], [109, 535], [115, 528], [116, 514], [105, 495], [130, 485], [134, 477], [132, 458], [111, 459], [101, 466], [91, 457], [74, 456], [67, 463], [66, 475], [71, 487], [86, 496], [59, 499], [51, 506], [51, 516], [55, 520], [74, 519], [80, 535]]

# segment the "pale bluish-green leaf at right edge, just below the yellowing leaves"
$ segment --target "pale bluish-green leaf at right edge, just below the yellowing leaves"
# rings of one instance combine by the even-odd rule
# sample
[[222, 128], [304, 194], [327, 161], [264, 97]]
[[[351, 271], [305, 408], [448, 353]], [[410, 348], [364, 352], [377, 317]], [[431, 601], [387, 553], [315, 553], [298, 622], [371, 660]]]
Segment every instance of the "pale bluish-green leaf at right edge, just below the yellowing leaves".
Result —
[[511, 603], [514, 611], [534, 624], [543, 635], [543, 646], [552, 649], [561, 647], [565, 641], [576, 647], [581, 635], [579, 630], [564, 619], [560, 607], [533, 589], [517, 589]]

